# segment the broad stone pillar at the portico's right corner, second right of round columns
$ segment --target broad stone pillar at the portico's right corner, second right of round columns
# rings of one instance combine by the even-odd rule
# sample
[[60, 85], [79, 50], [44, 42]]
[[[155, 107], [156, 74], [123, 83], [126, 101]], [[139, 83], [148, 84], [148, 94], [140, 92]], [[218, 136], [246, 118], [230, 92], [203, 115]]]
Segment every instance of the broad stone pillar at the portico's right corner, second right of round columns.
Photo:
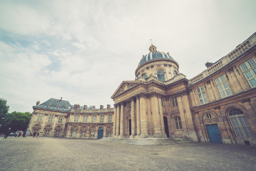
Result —
[[157, 94], [155, 91], [150, 93], [151, 101], [152, 101], [152, 119], [154, 123], [154, 137], [161, 137], [161, 128], [160, 128], [160, 118], [159, 118], [159, 107], [158, 107], [158, 100]]

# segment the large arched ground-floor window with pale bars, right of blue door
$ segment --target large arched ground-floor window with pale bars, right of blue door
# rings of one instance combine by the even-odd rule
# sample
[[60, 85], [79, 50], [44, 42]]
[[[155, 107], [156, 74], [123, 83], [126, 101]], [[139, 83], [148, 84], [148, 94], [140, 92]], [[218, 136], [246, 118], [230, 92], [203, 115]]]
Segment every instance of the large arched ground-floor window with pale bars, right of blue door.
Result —
[[231, 121], [234, 132], [237, 137], [253, 137], [252, 129], [247, 122], [246, 117], [240, 109], [233, 108], [229, 111], [229, 119]]

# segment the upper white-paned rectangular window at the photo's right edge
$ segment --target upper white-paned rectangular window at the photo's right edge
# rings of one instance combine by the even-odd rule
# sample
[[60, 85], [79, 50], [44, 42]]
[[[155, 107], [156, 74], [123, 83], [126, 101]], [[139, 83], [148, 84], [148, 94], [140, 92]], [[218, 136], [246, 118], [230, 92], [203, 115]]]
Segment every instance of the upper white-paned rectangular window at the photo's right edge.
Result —
[[246, 61], [242, 65], [240, 65], [240, 68], [243, 71], [243, 74], [245, 78], [248, 80], [251, 87], [256, 87], [256, 63], [254, 59], [250, 59], [249, 61]]

